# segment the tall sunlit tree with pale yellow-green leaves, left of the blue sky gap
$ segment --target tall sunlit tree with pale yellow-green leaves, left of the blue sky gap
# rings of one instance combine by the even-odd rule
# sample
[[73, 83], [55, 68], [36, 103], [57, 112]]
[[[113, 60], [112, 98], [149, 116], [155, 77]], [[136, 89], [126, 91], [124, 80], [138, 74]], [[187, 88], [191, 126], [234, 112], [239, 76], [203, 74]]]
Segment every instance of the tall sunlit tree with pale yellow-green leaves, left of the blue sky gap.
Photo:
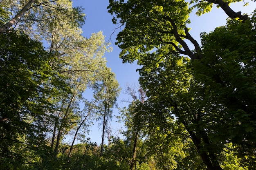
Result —
[[74, 122], [79, 122], [79, 101], [83, 101], [82, 93], [108, 74], [104, 73], [106, 60], [103, 55], [111, 49], [107, 48], [108, 43], [104, 42], [102, 32], [93, 33], [90, 38], [81, 35], [79, 26], [85, 19], [81, 10], [73, 8], [72, 2], [67, 0], [38, 2], [24, 15], [29, 19], [18, 25], [32, 38], [48, 42], [46, 49], [49, 53], [65, 61], [60, 73], [69, 78], [67, 82], [72, 94], [59, 97], [56, 102], [56, 106], [59, 106], [58, 112], [50, 113], [55, 122], [51, 140], [55, 159], [61, 139], [75, 128]]

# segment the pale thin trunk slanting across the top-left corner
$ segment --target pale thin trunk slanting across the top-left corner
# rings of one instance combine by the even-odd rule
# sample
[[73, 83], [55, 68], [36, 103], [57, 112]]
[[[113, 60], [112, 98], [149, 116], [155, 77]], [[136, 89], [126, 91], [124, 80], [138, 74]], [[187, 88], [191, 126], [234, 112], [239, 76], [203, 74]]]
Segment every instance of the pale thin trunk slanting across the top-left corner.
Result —
[[34, 0], [29, 0], [27, 4], [15, 15], [13, 19], [11, 19], [9, 22], [7, 22], [4, 26], [0, 28], [0, 34], [5, 33], [7, 30], [11, 28], [16, 22], [20, 20], [20, 18], [25, 14], [25, 12], [31, 7], [31, 4], [34, 2]]

